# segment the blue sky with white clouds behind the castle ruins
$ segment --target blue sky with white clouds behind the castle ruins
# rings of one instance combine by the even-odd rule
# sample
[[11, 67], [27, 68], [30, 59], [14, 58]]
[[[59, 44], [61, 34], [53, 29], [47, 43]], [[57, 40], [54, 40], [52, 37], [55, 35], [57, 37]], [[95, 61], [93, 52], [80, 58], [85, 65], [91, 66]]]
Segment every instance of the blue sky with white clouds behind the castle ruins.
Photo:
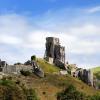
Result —
[[100, 65], [99, 0], [0, 0], [0, 58], [9, 64], [44, 56], [45, 38], [60, 38], [66, 61]]

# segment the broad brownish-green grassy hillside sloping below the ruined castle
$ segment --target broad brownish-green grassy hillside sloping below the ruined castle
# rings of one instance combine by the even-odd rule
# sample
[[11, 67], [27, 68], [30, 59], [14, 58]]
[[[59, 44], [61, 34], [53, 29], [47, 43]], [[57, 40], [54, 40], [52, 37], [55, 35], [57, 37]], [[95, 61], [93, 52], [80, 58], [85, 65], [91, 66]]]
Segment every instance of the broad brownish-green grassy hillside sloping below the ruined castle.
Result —
[[[56, 95], [58, 92], [64, 90], [66, 87], [68, 87], [70, 84], [73, 84], [78, 91], [81, 91], [87, 95], [94, 95], [96, 93], [100, 93], [100, 91], [95, 90], [92, 87], [89, 87], [82, 81], [78, 80], [77, 78], [73, 78], [70, 75], [62, 76], [59, 74], [60, 69], [54, 65], [50, 65], [46, 61], [42, 59], [38, 59], [39, 66], [44, 70], [45, 77], [39, 78], [36, 75], [31, 76], [11, 76], [11, 80], [17, 81], [16, 88], [11, 87], [10, 91], [12, 92], [13, 97], [15, 99], [13, 100], [26, 100], [22, 99], [22, 95], [26, 96], [23, 93], [23, 87], [26, 89], [32, 88], [36, 91], [36, 94], [40, 98], [40, 100], [56, 100]], [[19, 82], [19, 84], [18, 84]], [[12, 85], [11, 85], [12, 86]], [[18, 90], [19, 87], [19, 90]], [[0, 85], [0, 93], [4, 93], [5, 85]], [[8, 90], [6, 90], [8, 92]], [[19, 91], [19, 92], [18, 92]], [[9, 92], [10, 93], [10, 92]], [[20, 93], [19, 97], [18, 94]], [[2, 96], [0, 95], [0, 97]], [[16, 99], [17, 98], [17, 99]]]

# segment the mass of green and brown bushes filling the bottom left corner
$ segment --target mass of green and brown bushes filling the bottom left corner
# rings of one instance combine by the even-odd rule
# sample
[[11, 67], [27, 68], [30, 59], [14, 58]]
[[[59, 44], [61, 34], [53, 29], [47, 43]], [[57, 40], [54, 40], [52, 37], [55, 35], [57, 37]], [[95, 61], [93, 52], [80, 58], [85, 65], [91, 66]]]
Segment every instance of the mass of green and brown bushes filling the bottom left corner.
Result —
[[39, 100], [34, 89], [19, 83], [6, 77], [0, 80], [0, 100]]

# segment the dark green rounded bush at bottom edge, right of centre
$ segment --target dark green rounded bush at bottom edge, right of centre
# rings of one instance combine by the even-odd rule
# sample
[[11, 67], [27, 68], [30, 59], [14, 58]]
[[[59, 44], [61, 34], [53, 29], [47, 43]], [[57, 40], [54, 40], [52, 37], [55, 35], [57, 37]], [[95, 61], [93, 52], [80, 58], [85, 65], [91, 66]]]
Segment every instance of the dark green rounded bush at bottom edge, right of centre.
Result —
[[57, 100], [88, 100], [88, 98], [73, 85], [69, 85], [63, 92], [57, 94]]

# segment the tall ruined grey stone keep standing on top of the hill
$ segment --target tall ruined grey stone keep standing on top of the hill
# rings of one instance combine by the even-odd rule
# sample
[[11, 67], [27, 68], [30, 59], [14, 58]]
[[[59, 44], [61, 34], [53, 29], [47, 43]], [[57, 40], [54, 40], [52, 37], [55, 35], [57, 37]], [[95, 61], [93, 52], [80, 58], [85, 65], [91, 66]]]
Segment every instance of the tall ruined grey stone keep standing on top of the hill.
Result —
[[46, 38], [45, 59], [51, 64], [64, 68], [65, 47], [60, 45], [59, 38]]

